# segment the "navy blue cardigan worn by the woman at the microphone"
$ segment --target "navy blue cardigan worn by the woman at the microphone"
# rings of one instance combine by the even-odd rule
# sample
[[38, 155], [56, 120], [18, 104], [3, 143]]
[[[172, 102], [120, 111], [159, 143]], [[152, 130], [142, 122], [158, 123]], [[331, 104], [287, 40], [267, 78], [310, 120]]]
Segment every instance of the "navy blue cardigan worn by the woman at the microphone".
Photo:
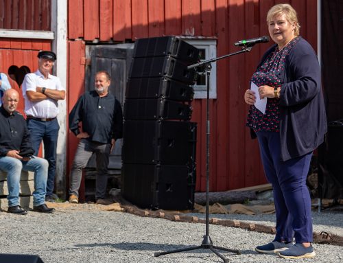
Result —
[[[265, 52], [259, 66], [275, 49], [276, 45], [273, 45]], [[316, 52], [300, 37], [286, 57], [284, 71], [279, 73], [283, 83], [280, 93], [280, 140], [283, 161], [306, 155], [324, 141], [327, 117], [320, 75]]]

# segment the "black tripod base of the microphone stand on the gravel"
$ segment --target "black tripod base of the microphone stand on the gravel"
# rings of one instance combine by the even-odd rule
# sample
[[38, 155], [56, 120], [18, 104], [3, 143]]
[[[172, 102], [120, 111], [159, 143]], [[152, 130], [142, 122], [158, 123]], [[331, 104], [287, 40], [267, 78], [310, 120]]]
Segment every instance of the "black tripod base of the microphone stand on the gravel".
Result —
[[233, 252], [233, 253], [236, 253], [238, 255], [241, 254], [241, 251], [236, 250], [236, 249], [226, 249], [224, 247], [213, 246], [213, 242], [212, 242], [211, 238], [209, 236], [204, 236], [204, 240], [202, 240], [202, 244], [200, 244], [200, 246], [187, 247], [186, 249], [175, 249], [175, 250], [165, 251], [165, 252], [155, 252], [154, 256], [159, 257], [160, 255], [167, 255], [167, 254], [172, 254], [172, 253], [192, 251], [192, 250], [196, 250], [196, 249], [209, 249], [213, 253], [215, 253], [215, 255], [220, 257], [223, 260], [223, 262], [229, 262], [229, 260], [227, 258], [225, 258], [224, 255], [222, 255], [218, 251], [216, 251], [215, 249]]

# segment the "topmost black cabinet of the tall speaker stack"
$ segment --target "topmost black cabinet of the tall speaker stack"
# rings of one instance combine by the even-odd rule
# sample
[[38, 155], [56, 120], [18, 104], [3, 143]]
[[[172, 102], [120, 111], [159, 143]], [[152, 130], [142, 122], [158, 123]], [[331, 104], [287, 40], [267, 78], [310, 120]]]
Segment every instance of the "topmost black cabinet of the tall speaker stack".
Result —
[[199, 49], [176, 36], [161, 36], [156, 38], [140, 38], [134, 43], [134, 58], [148, 56], [172, 56], [187, 60], [194, 64], [198, 62]]

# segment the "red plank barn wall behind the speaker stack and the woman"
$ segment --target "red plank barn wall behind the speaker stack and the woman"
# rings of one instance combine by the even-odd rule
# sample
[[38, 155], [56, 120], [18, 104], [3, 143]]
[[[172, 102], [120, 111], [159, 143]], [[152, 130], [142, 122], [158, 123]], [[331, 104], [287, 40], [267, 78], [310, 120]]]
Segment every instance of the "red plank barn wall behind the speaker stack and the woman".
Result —
[[[210, 36], [217, 39], [217, 56], [222, 56], [238, 50], [235, 41], [268, 35], [265, 16], [272, 5], [281, 2], [296, 8], [300, 34], [316, 49], [316, 0], [73, 0], [69, 1], [69, 44], [76, 38], [108, 43], [163, 35]], [[243, 96], [269, 45], [257, 45], [248, 54], [217, 62], [217, 99], [210, 102], [211, 191], [265, 183], [257, 141], [250, 139], [245, 126], [248, 106]], [[69, 76], [83, 74], [82, 67], [74, 69], [74, 63], [80, 64], [84, 54], [75, 53], [73, 61], [69, 59]], [[83, 83], [82, 77], [73, 80], [71, 93], [83, 91]], [[198, 122], [196, 189], [204, 191], [206, 101], [195, 100], [193, 108], [192, 120]]]

